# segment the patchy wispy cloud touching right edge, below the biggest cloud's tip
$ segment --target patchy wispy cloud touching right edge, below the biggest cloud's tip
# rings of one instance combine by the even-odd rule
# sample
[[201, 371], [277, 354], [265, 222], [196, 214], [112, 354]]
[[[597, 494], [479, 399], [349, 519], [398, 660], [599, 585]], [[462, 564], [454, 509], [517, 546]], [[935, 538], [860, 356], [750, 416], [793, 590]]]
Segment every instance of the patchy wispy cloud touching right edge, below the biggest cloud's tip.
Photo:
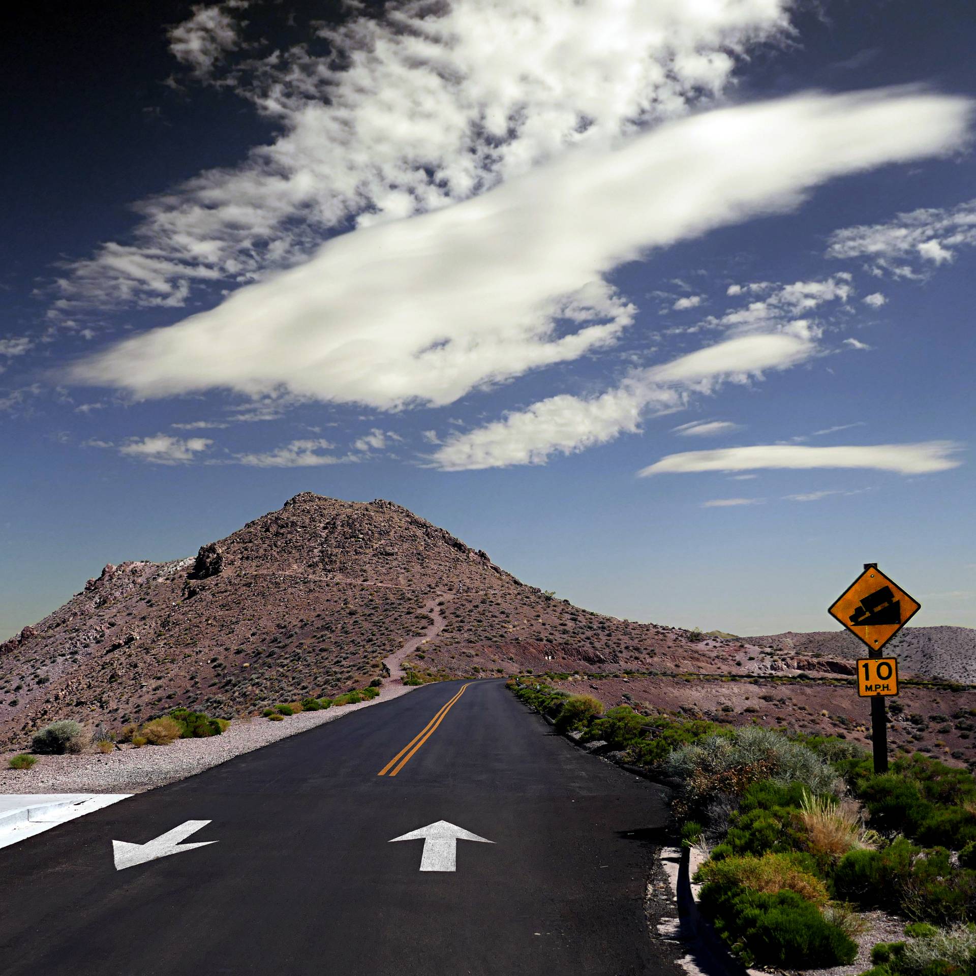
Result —
[[[976, 200], [944, 209], [898, 214], [886, 224], [858, 224], [831, 234], [829, 258], [864, 258], [877, 276], [923, 278], [924, 263], [951, 262], [956, 250], [976, 245]], [[918, 259], [921, 265], [918, 264]]]

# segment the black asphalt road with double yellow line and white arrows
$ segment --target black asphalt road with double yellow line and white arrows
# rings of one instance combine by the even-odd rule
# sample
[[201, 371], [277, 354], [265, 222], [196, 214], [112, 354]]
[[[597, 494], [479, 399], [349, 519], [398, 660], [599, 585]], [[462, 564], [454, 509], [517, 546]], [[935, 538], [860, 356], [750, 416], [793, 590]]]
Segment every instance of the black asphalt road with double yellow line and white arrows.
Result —
[[[644, 913], [660, 788], [553, 735], [501, 681], [440, 712], [463, 685], [0, 849], [0, 973], [671, 976]], [[112, 840], [189, 820], [211, 823], [185, 843], [217, 843], [116, 870]], [[493, 843], [421, 872], [426, 841], [388, 842], [438, 821]]]

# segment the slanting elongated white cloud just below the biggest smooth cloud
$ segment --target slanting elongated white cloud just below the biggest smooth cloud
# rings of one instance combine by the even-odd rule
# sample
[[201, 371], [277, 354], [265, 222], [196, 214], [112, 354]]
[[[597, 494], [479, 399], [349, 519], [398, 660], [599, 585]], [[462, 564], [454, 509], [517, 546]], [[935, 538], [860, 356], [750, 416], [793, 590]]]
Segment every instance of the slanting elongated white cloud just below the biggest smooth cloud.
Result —
[[677, 409], [695, 393], [711, 393], [724, 382], [745, 383], [763, 370], [802, 362], [815, 351], [812, 343], [785, 335], [745, 336], [706, 346], [636, 370], [600, 396], [552, 396], [504, 420], [457, 434], [432, 461], [444, 470], [545, 464], [552, 454], [572, 454], [625, 431], [636, 432], [648, 410]]

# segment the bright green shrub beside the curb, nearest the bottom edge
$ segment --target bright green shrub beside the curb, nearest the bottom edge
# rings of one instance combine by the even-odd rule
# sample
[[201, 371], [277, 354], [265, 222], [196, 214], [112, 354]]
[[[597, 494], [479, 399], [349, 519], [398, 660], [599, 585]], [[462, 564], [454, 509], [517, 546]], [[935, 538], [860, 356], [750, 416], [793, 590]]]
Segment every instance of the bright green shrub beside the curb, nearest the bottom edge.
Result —
[[750, 964], [819, 968], [851, 962], [857, 955], [850, 936], [794, 891], [770, 894], [708, 883], [701, 904], [722, 937]]

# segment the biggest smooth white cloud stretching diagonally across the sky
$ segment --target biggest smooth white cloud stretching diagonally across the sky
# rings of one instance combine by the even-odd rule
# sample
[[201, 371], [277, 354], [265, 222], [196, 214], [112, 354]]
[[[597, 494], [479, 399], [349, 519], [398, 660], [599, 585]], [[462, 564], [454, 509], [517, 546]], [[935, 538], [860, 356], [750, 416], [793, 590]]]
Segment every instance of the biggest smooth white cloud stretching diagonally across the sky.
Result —
[[[946, 151], [964, 137], [969, 110], [964, 99], [898, 89], [671, 122], [465, 203], [335, 238], [307, 264], [71, 375], [139, 396], [285, 388], [381, 409], [451, 403], [613, 343], [634, 314], [604, 277], [617, 265], [792, 209], [834, 176]], [[801, 284], [783, 301], [818, 299]], [[844, 287], [835, 275], [834, 294]]]

